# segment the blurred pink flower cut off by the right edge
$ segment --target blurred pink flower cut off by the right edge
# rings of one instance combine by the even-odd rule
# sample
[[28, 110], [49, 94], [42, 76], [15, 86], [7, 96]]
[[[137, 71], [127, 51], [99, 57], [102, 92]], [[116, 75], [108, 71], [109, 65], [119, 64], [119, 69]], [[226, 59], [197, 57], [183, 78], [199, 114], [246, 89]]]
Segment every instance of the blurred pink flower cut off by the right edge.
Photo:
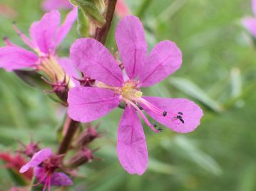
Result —
[[[256, 0], [252, 0], [252, 11], [256, 16]], [[256, 38], [256, 17], [247, 16], [243, 18], [242, 25]]]

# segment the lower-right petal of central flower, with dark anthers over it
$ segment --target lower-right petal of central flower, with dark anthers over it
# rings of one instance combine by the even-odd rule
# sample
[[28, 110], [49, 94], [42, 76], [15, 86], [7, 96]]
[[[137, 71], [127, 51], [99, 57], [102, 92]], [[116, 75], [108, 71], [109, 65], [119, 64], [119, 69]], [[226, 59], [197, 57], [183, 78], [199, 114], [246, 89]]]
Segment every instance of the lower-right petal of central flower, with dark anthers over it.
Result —
[[[200, 119], [203, 116], [203, 111], [198, 107], [198, 105], [188, 99], [160, 97], [143, 97], [143, 99], [147, 100], [159, 109], [167, 111], [167, 115], [163, 116], [163, 113], [155, 114], [155, 112], [148, 109], [147, 106], [142, 105], [143, 109], [145, 109], [149, 116], [173, 131], [188, 133], [190, 131], [194, 131], [194, 129], [200, 125]], [[180, 115], [178, 112], [183, 113], [181, 116], [184, 120], [184, 124], [179, 119], [175, 118], [175, 116]]]

